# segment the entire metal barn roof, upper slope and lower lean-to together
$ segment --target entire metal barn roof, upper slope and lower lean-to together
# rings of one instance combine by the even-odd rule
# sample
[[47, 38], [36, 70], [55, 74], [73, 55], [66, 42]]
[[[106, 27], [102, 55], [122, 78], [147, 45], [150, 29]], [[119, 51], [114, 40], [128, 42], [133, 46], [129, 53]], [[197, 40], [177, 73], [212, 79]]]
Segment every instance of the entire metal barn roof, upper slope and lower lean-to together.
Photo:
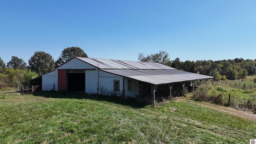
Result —
[[135, 62], [127, 60], [108, 60], [100, 58], [76, 57], [101, 71], [132, 78], [150, 84], [170, 84], [192, 80], [213, 78], [202, 74], [185, 72], [157, 62]]

